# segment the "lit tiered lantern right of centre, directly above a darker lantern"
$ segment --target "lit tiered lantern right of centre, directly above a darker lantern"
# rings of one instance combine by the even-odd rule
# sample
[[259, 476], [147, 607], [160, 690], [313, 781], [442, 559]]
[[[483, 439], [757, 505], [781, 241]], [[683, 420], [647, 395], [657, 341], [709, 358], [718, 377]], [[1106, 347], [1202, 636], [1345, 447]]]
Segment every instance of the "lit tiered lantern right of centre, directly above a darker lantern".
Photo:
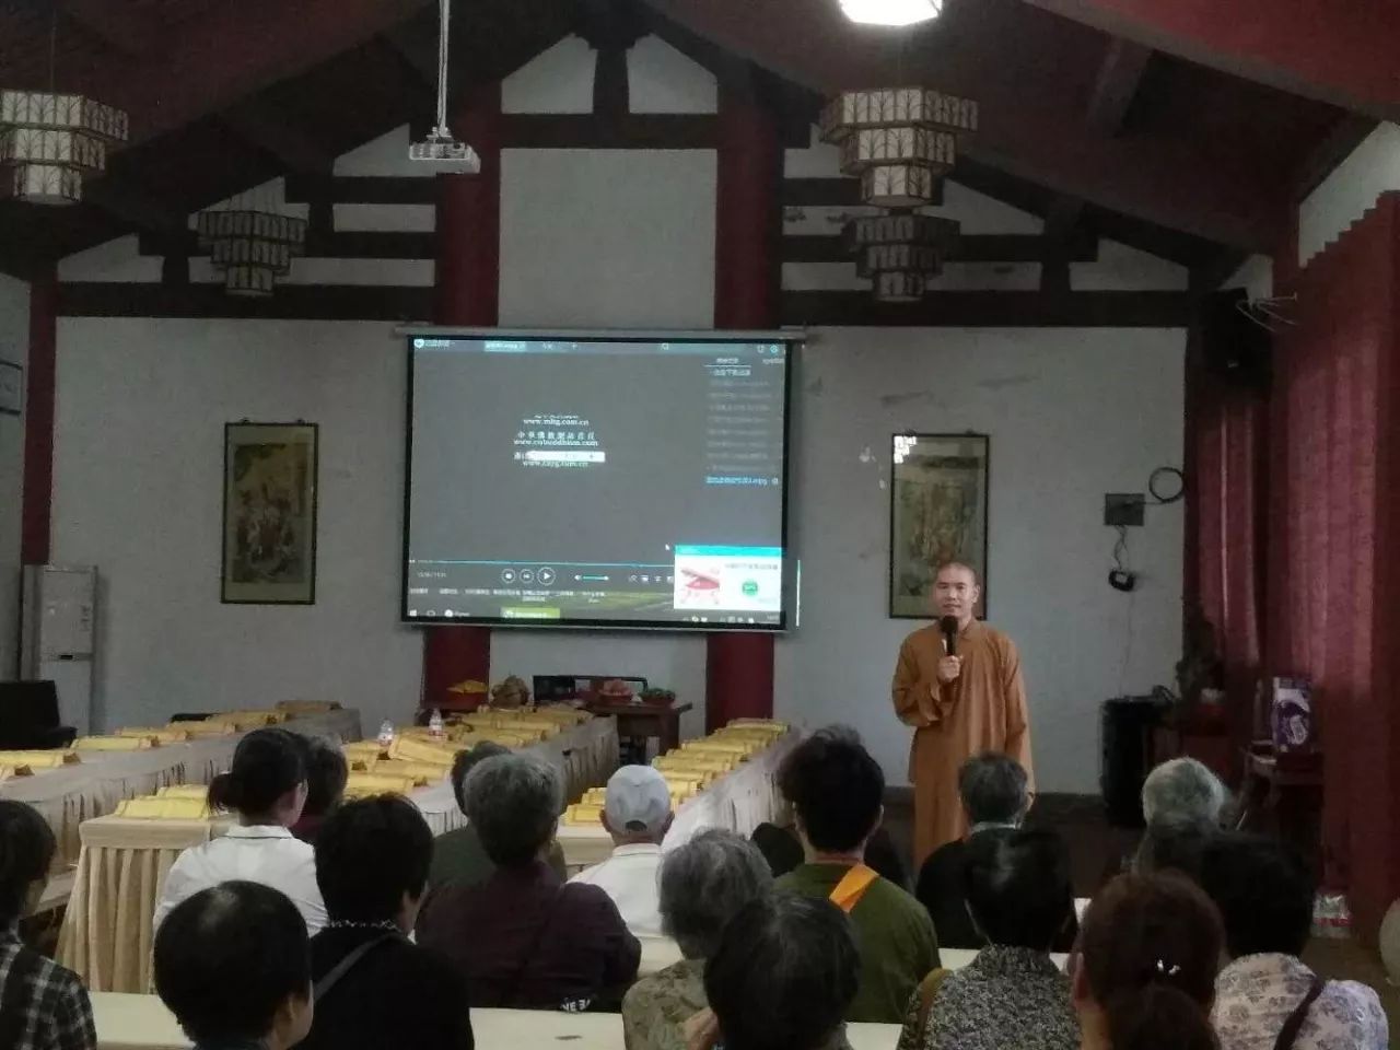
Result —
[[977, 130], [977, 104], [927, 88], [846, 91], [822, 113], [822, 140], [841, 148], [841, 171], [858, 175], [876, 207], [934, 200], [958, 161], [958, 137]]

